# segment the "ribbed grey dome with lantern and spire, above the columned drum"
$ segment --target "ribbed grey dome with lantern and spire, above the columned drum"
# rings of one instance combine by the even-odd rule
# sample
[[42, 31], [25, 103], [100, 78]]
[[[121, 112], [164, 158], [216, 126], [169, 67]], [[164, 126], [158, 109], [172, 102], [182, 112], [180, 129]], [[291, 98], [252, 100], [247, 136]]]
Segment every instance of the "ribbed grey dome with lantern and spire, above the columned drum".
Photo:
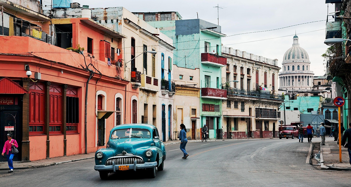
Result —
[[300, 47], [299, 37], [297, 35], [293, 37], [292, 47], [285, 52], [283, 56], [283, 61], [284, 60], [310, 60], [306, 50]]

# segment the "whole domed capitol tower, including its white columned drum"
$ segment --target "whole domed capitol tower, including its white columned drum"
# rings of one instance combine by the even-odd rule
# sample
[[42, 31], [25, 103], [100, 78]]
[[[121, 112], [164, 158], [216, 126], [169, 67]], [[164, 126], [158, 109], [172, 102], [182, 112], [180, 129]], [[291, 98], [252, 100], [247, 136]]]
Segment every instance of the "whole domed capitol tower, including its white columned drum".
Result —
[[287, 92], [311, 90], [313, 87], [313, 71], [310, 59], [299, 44], [299, 37], [293, 37], [292, 47], [283, 56], [282, 70], [279, 72], [279, 89]]

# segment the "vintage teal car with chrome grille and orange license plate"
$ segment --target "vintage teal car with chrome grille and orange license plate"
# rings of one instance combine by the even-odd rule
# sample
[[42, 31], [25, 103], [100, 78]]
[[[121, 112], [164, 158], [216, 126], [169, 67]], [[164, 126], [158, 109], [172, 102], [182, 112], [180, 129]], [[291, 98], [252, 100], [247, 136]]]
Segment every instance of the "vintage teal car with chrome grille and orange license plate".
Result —
[[95, 153], [95, 167], [101, 179], [108, 173], [146, 169], [155, 178], [163, 170], [166, 149], [157, 128], [146, 124], [125, 124], [112, 128], [106, 148]]

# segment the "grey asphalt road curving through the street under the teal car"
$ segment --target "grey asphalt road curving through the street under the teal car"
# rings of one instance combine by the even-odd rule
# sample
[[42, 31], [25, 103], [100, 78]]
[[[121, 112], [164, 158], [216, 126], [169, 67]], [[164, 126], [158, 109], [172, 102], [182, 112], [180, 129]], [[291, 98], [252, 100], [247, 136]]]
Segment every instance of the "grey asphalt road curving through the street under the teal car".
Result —
[[0, 186], [351, 186], [350, 172], [318, 170], [306, 163], [310, 143], [297, 139], [188, 142], [188, 159], [179, 144], [166, 146], [164, 171], [119, 172], [100, 180], [94, 160], [43, 168], [0, 171]]

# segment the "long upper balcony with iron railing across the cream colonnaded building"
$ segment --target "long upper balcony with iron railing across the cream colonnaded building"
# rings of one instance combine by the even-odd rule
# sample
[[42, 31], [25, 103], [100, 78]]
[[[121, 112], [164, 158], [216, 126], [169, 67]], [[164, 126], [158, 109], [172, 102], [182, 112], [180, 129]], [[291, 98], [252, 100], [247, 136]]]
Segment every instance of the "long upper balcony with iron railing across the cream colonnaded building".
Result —
[[284, 97], [280, 94], [271, 94], [269, 91], [256, 91], [256, 90], [246, 90], [238, 88], [226, 88], [227, 95], [230, 96], [245, 96], [251, 98], [264, 98], [270, 100], [277, 100], [280, 102], [284, 101]]

